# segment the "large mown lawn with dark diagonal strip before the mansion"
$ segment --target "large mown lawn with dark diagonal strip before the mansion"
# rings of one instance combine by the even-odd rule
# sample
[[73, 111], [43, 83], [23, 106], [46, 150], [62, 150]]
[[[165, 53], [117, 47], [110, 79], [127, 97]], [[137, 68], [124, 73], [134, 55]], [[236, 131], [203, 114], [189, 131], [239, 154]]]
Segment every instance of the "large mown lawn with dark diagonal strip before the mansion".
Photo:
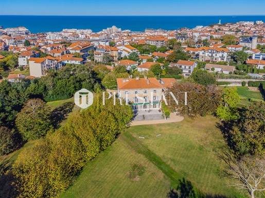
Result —
[[[166, 197], [183, 177], [211, 197], [243, 197], [219, 176], [217, 159], [224, 145], [213, 116], [183, 122], [133, 126], [84, 167], [61, 197]], [[161, 133], [161, 136], [155, 135]], [[145, 138], [138, 138], [138, 136]], [[146, 172], [131, 181], [133, 163]]]

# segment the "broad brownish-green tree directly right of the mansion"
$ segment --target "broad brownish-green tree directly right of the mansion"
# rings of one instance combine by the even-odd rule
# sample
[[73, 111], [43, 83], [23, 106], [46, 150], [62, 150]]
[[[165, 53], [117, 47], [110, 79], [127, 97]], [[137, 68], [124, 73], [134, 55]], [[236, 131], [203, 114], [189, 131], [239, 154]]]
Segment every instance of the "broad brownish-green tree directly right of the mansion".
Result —
[[[167, 93], [166, 99], [171, 112], [178, 111], [182, 116], [195, 118], [215, 112], [221, 100], [221, 92], [217, 86], [203, 86], [194, 83], [174, 83], [169, 91], [178, 98], [176, 104], [172, 96]], [[187, 105], [185, 94], [187, 92]], [[169, 101], [171, 101], [169, 103]]]

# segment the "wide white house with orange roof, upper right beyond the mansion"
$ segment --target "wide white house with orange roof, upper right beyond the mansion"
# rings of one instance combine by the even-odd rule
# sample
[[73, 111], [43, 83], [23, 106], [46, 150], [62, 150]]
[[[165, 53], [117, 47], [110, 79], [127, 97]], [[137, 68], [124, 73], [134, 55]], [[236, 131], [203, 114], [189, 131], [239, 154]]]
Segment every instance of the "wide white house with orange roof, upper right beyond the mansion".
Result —
[[199, 61], [226, 62], [228, 51], [227, 48], [200, 47], [198, 50]]

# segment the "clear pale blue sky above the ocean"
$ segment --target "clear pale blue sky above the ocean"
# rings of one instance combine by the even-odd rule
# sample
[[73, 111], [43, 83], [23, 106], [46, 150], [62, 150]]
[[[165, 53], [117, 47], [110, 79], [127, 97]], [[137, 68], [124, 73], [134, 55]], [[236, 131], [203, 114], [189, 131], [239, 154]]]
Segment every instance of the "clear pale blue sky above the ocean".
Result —
[[265, 15], [265, 1], [0, 0], [0, 15]]

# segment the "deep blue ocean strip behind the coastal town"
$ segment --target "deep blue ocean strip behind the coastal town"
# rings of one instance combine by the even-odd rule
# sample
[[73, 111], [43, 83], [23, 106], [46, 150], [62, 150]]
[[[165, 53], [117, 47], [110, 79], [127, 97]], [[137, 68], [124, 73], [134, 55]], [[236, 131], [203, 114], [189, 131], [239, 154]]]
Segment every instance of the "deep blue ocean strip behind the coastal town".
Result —
[[99, 32], [113, 25], [121, 30], [145, 31], [146, 28], [176, 30], [219, 23], [263, 21], [264, 15], [251, 16], [19, 16], [0, 15], [0, 26], [24, 26], [32, 33], [59, 32], [65, 28], [92, 29]]

